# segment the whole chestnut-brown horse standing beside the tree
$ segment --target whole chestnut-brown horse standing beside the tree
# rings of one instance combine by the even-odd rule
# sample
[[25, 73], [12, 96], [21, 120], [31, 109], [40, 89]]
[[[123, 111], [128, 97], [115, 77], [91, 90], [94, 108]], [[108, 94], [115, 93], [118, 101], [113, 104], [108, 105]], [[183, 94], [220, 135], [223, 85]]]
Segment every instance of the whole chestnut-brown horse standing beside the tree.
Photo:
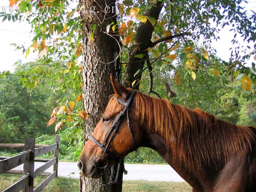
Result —
[[[167, 99], [149, 97], [123, 87], [112, 76], [111, 83], [115, 94], [110, 96], [93, 137], [86, 141], [78, 161], [84, 176], [99, 178], [100, 164], [110, 166], [136, 148], [149, 147], [192, 186], [193, 192], [256, 191], [255, 127], [238, 126], [200, 109], [192, 111]], [[135, 94], [127, 109], [132, 137], [125, 115], [123, 119], [118, 118], [116, 135], [110, 138], [114, 134], [111, 132], [104, 142], [132, 91]], [[92, 138], [98, 144], [104, 142], [103, 148]], [[97, 158], [102, 156], [104, 148], [108, 148], [104, 158]]]

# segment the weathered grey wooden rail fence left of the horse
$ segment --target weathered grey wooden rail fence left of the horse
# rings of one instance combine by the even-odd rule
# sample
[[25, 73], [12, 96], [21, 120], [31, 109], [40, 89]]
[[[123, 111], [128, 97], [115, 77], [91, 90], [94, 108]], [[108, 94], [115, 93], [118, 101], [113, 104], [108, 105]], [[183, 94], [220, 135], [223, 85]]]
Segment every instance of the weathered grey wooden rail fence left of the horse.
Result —
[[[60, 136], [55, 135], [55, 143], [52, 145], [36, 145], [35, 139], [26, 139], [25, 144], [6, 144], [0, 143], [0, 147], [24, 147], [24, 152], [13, 157], [0, 157], [0, 174], [1, 173], [18, 173], [23, 176], [10, 187], [2, 192], [40, 192], [54, 178], [58, 177], [58, 162], [59, 162], [59, 142]], [[37, 148], [36, 148], [37, 147]], [[53, 159], [36, 159], [36, 156], [43, 155], [54, 150]], [[2, 159], [2, 160], [1, 160]], [[41, 167], [34, 170], [36, 162], [46, 162]], [[24, 163], [23, 171], [10, 171], [11, 169]], [[53, 173], [44, 172], [53, 165]], [[34, 179], [38, 175], [48, 175], [48, 177], [34, 189]]]

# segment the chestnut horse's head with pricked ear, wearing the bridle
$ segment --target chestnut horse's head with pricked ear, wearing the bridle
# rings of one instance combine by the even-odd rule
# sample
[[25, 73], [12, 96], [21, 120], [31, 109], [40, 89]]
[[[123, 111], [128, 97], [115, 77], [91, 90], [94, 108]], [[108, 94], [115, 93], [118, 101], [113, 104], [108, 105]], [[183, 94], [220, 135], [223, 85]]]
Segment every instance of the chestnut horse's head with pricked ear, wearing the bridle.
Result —
[[85, 177], [99, 178], [99, 169], [110, 167], [136, 150], [142, 139], [140, 121], [135, 118], [136, 92], [125, 88], [110, 76], [115, 94], [92, 135], [86, 141], [78, 160]]

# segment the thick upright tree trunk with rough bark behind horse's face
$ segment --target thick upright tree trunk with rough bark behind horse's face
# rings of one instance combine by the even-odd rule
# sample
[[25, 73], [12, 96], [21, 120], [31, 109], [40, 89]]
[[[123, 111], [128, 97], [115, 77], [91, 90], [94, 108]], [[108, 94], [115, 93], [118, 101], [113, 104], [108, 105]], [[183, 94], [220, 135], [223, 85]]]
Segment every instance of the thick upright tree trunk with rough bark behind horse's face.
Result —
[[[106, 15], [103, 10], [106, 4], [111, 8]], [[83, 107], [89, 117], [84, 122], [85, 142], [99, 122], [103, 110], [108, 103], [108, 97], [113, 93], [110, 83], [110, 73], [119, 76], [119, 59], [114, 61], [119, 53], [117, 41], [108, 36], [106, 27], [112, 21], [116, 23], [115, 12], [112, 13], [112, 6], [115, 6], [113, 0], [83, 1], [80, 0], [80, 7], [83, 20]], [[95, 7], [94, 11], [92, 7]], [[96, 14], [94, 14], [96, 13]], [[93, 25], [96, 29], [93, 34]], [[114, 61], [114, 62], [113, 62]], [[110, 63], [111, 62], [111, 63]], [[109, 63], [109, 64], [106, 64]], [[107, 172], [108, 177], [110, 176]], [[85, 178], [80, 175], [80, 192], [117, 192], [122, 191], [123, 169], [120, 170], [119, 182], [121, 185], [112, 185], [111, 187], [101, 187], [101, 179]]]

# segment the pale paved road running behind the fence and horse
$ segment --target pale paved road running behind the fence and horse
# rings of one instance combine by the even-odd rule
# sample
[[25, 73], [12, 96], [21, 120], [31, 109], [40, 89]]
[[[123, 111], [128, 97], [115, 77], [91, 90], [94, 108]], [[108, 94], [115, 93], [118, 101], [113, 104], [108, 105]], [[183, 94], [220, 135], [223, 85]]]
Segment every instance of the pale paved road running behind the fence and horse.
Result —
[[[42, 166], [43, 162], [35, 162], [35, 169]], [[125, 164], [128, 171], [124, 175], [124, 180], [148, 180], [148, 181], [184, 181], [169, 165], [149, 165], [149, 164]], [[16, 170], [23, 170], [20, 165]], [[53, 166], [46, 170], [52, 172]], [[76, 163], [59, 162], [59, 176], [79, 178], [79, 170]]]

